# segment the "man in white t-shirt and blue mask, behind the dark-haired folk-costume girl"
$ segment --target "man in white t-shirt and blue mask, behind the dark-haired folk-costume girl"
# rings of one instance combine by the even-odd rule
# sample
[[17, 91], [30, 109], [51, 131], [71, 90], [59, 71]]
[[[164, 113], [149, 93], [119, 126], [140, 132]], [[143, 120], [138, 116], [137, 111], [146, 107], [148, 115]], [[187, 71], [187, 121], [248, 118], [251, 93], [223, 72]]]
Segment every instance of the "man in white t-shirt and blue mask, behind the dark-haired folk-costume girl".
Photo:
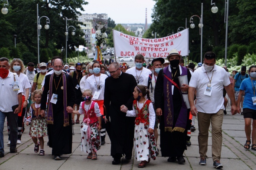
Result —
[[136, 79], [136, 82], [138, 85], [143, 84], [143, 81], [146, 77], [148, 77], [149, 74], [151, 74], [151, 71], [145, 67], [143, 67], [144, 63], [144, 56], [141, 54], [137, 54], [134, 58], [135, 67], [131, 67], [126, 71], [126, 73], [131, 74]]

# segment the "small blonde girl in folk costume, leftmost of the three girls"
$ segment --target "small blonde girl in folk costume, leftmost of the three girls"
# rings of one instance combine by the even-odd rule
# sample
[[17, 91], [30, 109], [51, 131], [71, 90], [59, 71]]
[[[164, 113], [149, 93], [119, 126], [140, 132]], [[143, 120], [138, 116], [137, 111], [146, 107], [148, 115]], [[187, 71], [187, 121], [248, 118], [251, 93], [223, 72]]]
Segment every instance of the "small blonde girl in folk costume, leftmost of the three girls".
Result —
[[[26, 125], [30, 124], [29, 135], [35, 143], [34, 152], [39, 151], [39, 144], [41, 147], [39, 155], [44, 155], [44, 136], [47, 136], [47, 121], [45, 115], [40, 115], [42, 90], [35, 90], [32, 93], [31, 99], [35, 103], [30, 106], [29, 115], [26, 118]], [[37, 142], [37, 138], [39, 142]]]

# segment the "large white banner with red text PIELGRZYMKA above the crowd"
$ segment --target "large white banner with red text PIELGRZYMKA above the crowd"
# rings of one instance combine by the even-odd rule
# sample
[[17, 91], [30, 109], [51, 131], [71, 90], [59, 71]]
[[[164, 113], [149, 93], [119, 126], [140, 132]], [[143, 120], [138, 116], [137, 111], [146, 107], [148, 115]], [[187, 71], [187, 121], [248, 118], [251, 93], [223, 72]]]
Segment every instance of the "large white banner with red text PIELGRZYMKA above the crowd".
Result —
[[166, 58], [172, 49], [181, 56], [188, 55], [188, 29], [162, 38], [141, 38], [123, 34], [113, 30], [115, 55], [118, 57], [134, 57], [142, 54], [146, 58]]

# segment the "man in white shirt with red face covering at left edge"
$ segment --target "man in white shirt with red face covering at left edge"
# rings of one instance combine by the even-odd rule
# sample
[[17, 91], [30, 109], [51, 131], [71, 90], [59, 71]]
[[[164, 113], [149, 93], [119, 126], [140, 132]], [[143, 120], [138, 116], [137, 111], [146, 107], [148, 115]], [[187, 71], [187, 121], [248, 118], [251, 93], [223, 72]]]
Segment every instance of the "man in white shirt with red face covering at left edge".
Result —
[[10, 153], [17, 152], [16, 143], [18, 139], [18, 113], [21, 112], [22, 86], [16, 73], [9, 71], [8, 58], [0, 58], [0, 157], [4, 157], [3, 125], [5, 117], [10, 127]]

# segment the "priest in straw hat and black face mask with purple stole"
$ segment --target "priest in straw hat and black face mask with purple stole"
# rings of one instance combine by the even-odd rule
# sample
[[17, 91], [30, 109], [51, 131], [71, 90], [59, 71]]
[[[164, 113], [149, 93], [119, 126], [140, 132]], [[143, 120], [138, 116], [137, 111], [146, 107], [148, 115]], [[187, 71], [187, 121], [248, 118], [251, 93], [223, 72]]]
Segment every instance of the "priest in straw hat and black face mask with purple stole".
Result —
[[180, 84], [178, 77], [190, 71], [180, 66], [180, 53], [173, 49], [167, 59], [170, 65], [160, 70], [155, 86], [156, 114], [160, 116], [160, 143], [162, 157], [169, 157], [168, 162], [185, 163], [183, 152], [186, 149], [187, 122], [190, 109], [186, 107], [181, 92], [188, 91], [188, 84]]

